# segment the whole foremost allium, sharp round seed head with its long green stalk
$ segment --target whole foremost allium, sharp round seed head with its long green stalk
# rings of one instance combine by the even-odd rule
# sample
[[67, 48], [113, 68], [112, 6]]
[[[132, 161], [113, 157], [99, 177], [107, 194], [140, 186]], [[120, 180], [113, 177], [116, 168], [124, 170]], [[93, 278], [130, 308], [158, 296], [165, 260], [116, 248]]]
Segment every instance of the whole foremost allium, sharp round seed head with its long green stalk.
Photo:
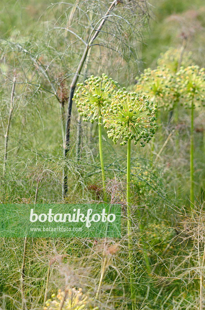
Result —
[[136, 92], [118, 91], [112, 103], [106, 104], [102, 110], [104, 117], [104, 128], [107, 129], [108, 138], [114, 144], [120, 139], [120, 145], [127, 142], [127, 217], [128, 217], [128, 247], [130, 263], [130, 290], [131, 299], [135, 297], [135, 287], [133, 279], [133, 256], [132, 256], [132, 221], [131, 221], [131, 199], [130, 199], [130, 159], [131, 159], [131, 140], [134, 144], [139, 143], [141, 147], [149, 143], [155, 134], [156, 124], [155, 113], [157, 105], [153, 106], [148, 100], [149, 96], [139, 97]]

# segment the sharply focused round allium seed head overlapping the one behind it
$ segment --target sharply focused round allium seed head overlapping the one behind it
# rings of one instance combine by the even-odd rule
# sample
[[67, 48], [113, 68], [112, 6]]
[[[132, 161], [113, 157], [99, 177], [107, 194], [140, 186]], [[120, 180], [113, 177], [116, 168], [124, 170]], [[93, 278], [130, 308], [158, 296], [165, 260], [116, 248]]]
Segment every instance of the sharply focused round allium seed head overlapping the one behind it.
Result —
[[120, 145], [125, 145], [128, 139], [134, 140], [134, 144], [140, 143], [145, 146], [155, 134], [156, 124], [155, 113], [157, 105], [148, 100], [149, 96], [139, 95], [135, 92], [118, 91], [111, 105], [107, 104], [102, 111], [105, 124], [108, 129], [108, 138], [111, 138], [114, 144], [119, 139]]

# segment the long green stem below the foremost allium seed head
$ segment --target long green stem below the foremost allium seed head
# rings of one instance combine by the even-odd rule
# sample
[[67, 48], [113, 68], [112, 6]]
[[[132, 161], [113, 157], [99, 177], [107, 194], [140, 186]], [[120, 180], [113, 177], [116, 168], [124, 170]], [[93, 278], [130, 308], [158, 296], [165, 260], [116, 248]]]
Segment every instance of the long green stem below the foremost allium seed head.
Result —
[[132, 221], [131, 221], [131, 200], [130, 200], [130, 159], [131, 159], [131, 140], [128, 139], [127, 145], [127, 230], [128, 230], [128, 250], [130, 264], [130, 292], [132, 308], [134, 309], [135, 288], [133, 285], [133, 255], [132, 255]]

